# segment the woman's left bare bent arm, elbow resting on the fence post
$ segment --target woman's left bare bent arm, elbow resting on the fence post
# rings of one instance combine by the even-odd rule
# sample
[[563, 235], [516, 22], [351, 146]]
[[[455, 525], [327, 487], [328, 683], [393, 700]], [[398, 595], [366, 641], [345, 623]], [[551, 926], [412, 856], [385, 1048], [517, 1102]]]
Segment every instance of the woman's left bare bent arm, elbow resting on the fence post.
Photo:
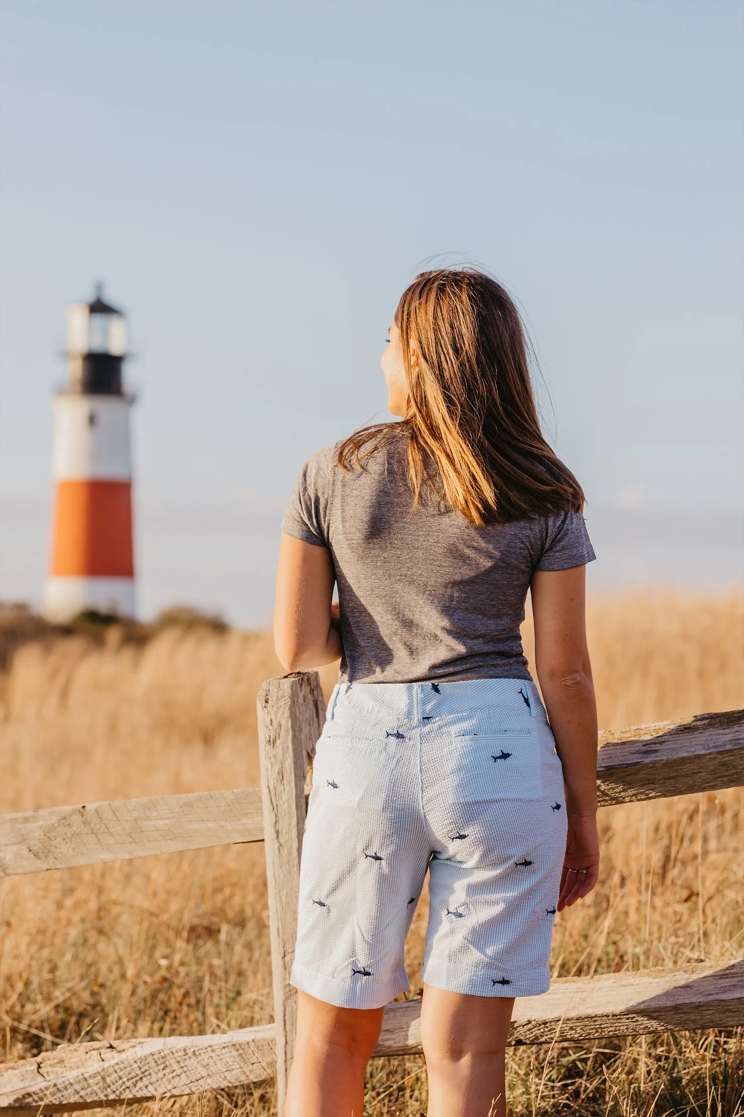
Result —
[[331, 610], [335, 581], [326, 547], [281, 536], [273, 634], [284, 670], [308, 670], [340, 659], [341, 637]]

